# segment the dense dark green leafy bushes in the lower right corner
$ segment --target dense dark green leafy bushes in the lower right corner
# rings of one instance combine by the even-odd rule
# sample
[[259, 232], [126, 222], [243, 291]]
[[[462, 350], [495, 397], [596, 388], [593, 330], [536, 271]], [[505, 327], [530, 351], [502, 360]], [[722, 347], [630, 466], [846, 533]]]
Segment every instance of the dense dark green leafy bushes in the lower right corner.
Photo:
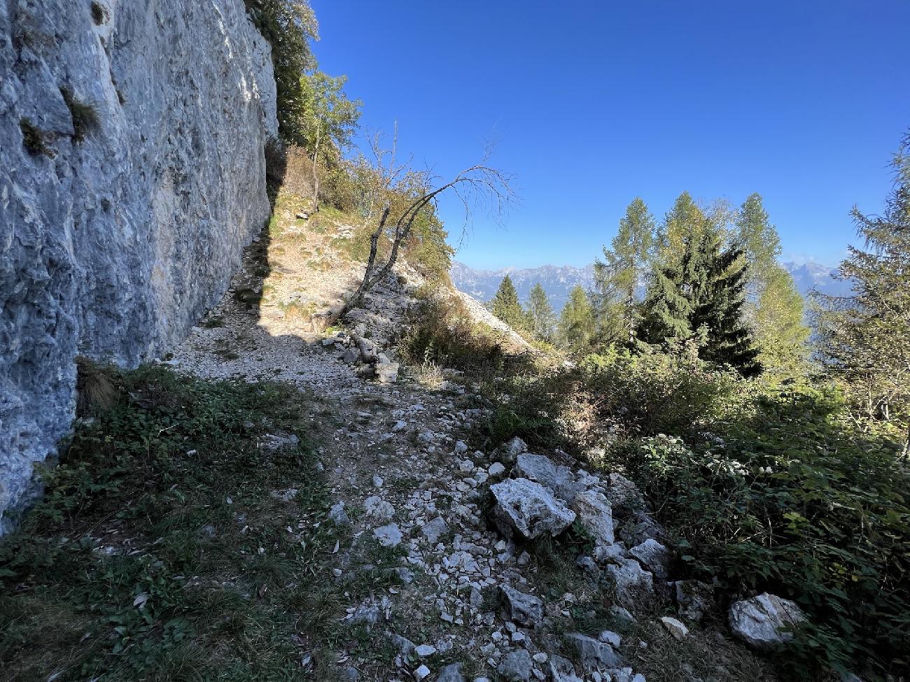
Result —
[[806, 609], [794, 652], [808, 669], [860, 659], [897, 672], [910, 663], [910, 476], [895, 448], [851, 431], [828, 392], [740, 390], [749, 409], [715, 422], [712, 438], [646, 438], [624, 465], [660, 504], [693, 576]]

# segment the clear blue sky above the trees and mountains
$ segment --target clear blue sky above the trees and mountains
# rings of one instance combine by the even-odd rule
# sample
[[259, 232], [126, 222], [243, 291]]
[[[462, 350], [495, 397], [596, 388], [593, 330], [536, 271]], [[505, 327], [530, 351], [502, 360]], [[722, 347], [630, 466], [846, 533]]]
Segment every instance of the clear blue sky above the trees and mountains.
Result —
[[[312, 0], [321, 68], [362, 125], [440, 176], [514, 173], [520, 204], [475, 214], [474, 267], [581, 266], [642, 196], [759, 192], [787, 259], [835, 264], [858, 204], [881, 210], [910, 127], [907, 0]], [[463, 214], [443, 202], [453, 242]]]

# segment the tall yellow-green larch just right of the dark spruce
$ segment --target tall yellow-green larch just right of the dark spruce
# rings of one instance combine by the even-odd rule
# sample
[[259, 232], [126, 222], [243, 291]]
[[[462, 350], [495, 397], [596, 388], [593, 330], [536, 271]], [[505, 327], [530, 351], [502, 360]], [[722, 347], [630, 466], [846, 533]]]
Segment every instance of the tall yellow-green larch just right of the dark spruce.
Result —
[[747, 261], [745, 316], [754, 329], [759, 361], [785, 374], [797, 372], [808, 358], [810, 334], [803, 321], [803, 297], [777, 262], [781, 240], [761, 195], [752, 194], [743, 202], [736, 231]]

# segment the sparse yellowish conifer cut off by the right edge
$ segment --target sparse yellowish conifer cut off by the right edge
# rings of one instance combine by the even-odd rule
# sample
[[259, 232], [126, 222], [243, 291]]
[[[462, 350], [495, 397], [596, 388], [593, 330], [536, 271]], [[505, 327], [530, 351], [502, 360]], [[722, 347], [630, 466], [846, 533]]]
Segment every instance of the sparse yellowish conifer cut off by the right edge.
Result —
[[838, 271], [853, 283], [853, 296], [816, 294], [816, 321], [819, 352], [852, 404], [867, 417], [910, 429], [910, 134], [892, 167], [895, 187], [885, 214], [865, 216], [854, 206], [865, 244], [850, 246]]

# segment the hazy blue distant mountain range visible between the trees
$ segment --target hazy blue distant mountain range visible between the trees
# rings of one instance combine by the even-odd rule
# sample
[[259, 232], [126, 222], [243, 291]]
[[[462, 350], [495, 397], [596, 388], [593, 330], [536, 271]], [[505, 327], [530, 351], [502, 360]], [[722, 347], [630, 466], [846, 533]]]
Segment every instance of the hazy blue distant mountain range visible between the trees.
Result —
[[[848, 294], [850, 286], [832, 277], [836, 268], [817, 263], [784, 263], [783, 266], [794, 277], [796, 288], [806, 296], [817, 289], [825, 294], [843, 296]], [[594, 266], [541, 266], [541, 267], [504, 267], [501, 270], [476, 270], [455, 261], [450, 271], [452, 283], [465, 294], [479, 301], [489, 301], [496, 294], [503, 276], [510, 276], [521, 303], [528, 303], [531, 287], [541, 283], [543, 290], [550, 297], [551, 306], [559, 312], [569, 300], [569, 292], [577, 285], [590, 289], [594, 286]]]

